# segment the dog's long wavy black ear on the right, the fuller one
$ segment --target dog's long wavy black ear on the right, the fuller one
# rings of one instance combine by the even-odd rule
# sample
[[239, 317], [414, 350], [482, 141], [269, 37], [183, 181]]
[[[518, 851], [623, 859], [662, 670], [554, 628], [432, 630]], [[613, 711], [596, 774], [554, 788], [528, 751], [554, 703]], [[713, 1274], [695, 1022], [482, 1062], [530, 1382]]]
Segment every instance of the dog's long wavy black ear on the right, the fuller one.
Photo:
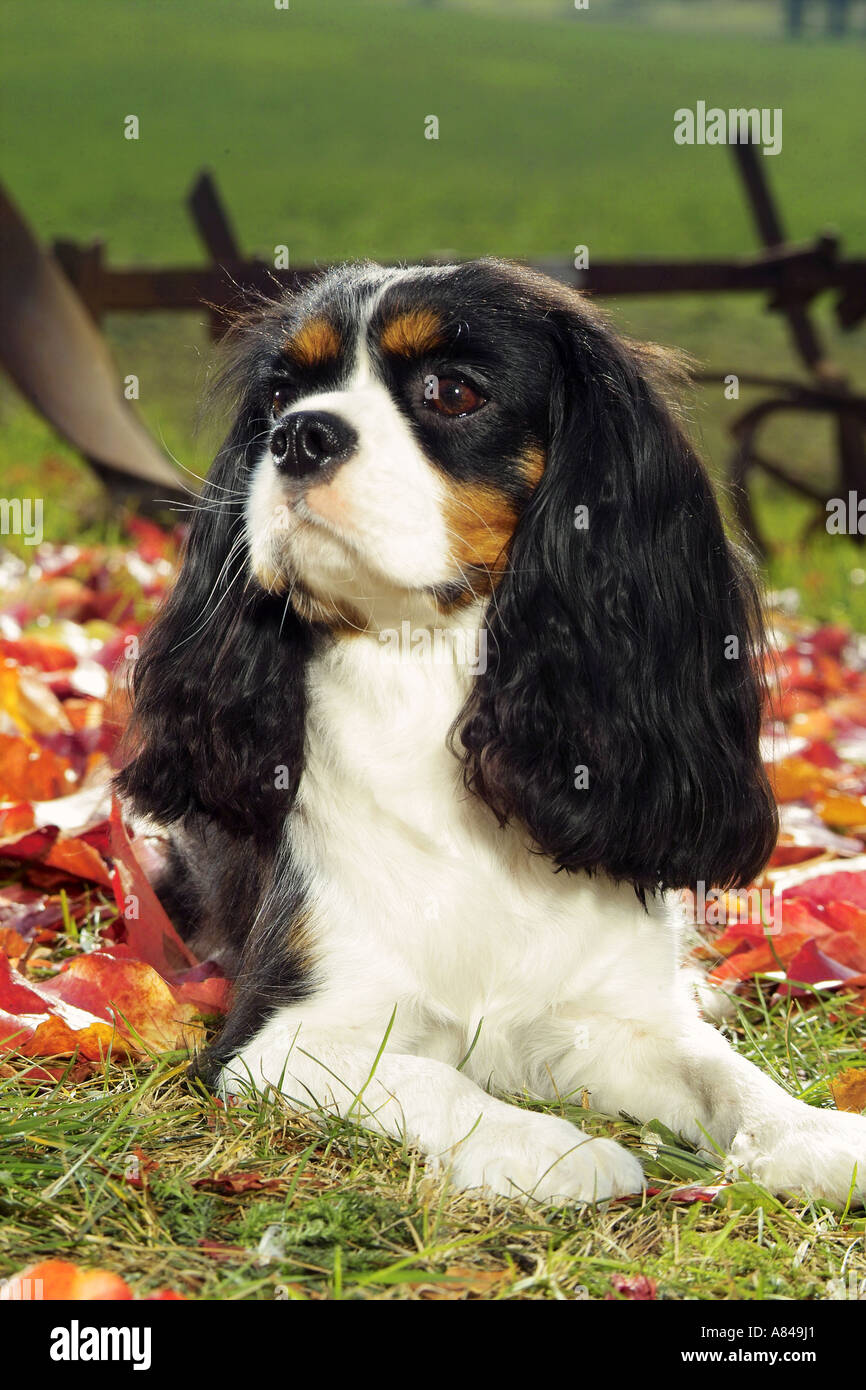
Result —
[[546, 471], [456, 726], [467, 784], [564, 869], [749, 881], [777, 833], [760, 605], [641, 353], [557, 307]]

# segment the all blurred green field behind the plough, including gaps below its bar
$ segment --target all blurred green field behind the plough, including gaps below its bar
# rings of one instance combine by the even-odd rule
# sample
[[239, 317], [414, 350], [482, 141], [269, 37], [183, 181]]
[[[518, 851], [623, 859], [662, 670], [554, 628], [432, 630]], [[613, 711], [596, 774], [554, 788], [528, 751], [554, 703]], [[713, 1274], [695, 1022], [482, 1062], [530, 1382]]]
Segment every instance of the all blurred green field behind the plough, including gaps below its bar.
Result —
[[[866, 17], [827, 38], [824, 6], [799, 40], [771, 0], [43, 0], [0, 21], [3, 174], [44, 240], [104, 238], [113, 264], [206, 259], [183, 199], [209, 167], [246, 253], [293, 264], [431, 253], [737, 256], [756, 249], [726, 147], [677, 146], [673, 113], [698, 100], [781, 107], [783, 152], [763, 160], [787, 234], [827, 225], [866, 252]], [[140, 139], [124, 139], [124, 117]], [[439, 139], [424, 139], [424, 118]], [[799, 373], [760, 296], [607, 300], [617, 324], [737, 374]], [[817, 311], [831, 356], [866, 382], [866, 332]], [[196, 432], [213, 356], [204, 314], [106, 321], [140, 413], [196, 473], [221, 421]], [[717, 477], [742, 409], [699, 388], [691, 425]], [[46, 535], [104, 524], [86, 468], [0, 381], [6, 496], [46, 499]], [[831, 432], [773, 425], [767, 452], [831, 477]], [[36, 481], [35, 481], [36, 480]], [[848, 539], [796, 542], [803, 507], [760, 488], [769, 578], [819, 616], [866, 627], [866, 556]], [[853, 571], [853, 578], [852, 578]]]

